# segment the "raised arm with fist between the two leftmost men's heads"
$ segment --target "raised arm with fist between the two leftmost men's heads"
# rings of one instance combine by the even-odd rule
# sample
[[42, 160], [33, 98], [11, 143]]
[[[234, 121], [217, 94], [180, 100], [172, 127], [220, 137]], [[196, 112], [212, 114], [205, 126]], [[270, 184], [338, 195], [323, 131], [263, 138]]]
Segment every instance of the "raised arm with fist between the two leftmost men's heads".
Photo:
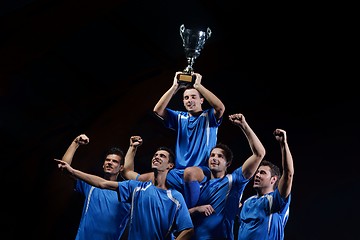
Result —
[[135, 180], [139, 173], [135, 172], [134, 159], [137, 148], [141, 146], [143, 140], [140, 136], [131, 136], [129, 149], [125, 155], [124, 170], [122, 172], [124, 178]]

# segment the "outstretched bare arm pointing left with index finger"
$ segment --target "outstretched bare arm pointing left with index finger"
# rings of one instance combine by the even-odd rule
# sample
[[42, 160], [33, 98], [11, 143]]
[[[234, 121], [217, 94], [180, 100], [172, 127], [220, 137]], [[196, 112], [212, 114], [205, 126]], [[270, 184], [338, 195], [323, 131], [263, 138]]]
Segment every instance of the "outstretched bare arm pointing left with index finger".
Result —
[[65, 161], [54, 159], [58, 162], [58, 168], [62, 171], [65, 171], [66, 173], [70, 174], [73, 178], [81, 179], [84, 182], [87, 182], [88, 184], [103, 188], [103, 189], [110, 189], [116, 191], [118, 188], [118, 182], [115, 181], [108, 181], [106, 179], [103, 179], [101, 177], [98, 177], [96, 175], [84, 173], [82, 171], [79, 171], [77, 169], [74, 169]]

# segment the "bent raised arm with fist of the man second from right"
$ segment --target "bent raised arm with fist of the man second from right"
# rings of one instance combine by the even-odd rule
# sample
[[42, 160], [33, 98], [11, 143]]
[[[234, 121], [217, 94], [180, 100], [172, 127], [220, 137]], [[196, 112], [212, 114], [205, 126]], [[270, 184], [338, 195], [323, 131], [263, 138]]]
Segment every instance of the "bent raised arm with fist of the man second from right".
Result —
[[229, 116], [229, 120], [236, 126], [239, 126], [243, 133], [245, 134], [251, 151], [252, 155], [246, 159], [246, 161], [242, 165], [242, 171], [245, 178], [251, 178], [256, 170], [259, 167], [259, 164], [265, 157], [265, 148], [260, 142], [259, 138], [256, 136], [254, 131], [251, 129], [249, 124], [245, 120], [245, 116], [241, 113], [232, 114]]

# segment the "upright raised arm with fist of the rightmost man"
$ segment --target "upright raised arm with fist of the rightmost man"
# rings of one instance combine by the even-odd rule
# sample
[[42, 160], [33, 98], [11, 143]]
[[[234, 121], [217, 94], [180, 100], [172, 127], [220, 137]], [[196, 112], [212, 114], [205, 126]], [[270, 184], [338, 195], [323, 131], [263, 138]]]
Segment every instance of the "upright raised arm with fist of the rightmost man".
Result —
[[280, 143], [281, 158], [282, 158], [282, 175], [279, 180], [278, 189], [280, 195], [287, 198], [291, 192], [292, 182], [294, 178], [294, 163], [290, 148], [287, 142], [286, 131], [276, 129], [274, 131], [276, 140]]

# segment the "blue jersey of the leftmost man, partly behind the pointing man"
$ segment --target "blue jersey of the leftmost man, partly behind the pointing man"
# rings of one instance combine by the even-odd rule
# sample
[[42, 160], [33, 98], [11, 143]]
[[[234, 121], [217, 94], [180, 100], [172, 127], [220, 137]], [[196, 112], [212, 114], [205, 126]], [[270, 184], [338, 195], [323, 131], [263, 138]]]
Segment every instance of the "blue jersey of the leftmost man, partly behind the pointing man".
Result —
[[119, 202], [117, 192], [93, 187], [81, 180], [75, 190], [85, 197], [76, 240], [118, 240], [130, 215], [130, 204]]

